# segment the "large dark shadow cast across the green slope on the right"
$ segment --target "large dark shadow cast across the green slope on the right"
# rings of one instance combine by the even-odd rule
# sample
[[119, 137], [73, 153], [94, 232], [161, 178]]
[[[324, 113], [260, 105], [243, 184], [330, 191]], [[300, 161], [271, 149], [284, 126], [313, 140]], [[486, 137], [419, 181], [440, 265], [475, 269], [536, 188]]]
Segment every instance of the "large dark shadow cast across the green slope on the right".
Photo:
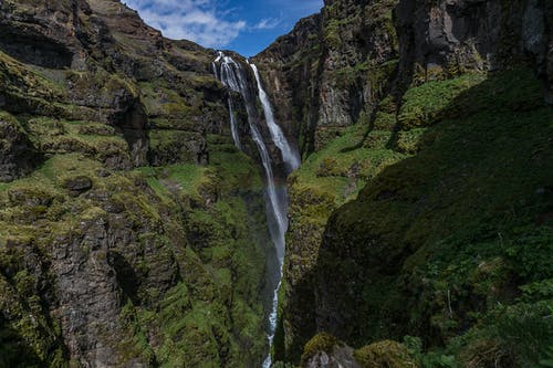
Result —
[[[431, 103], [422, 99], [421, 108]], [[435, 117], [418, 138], [418, 154], [387, 167], [331, 215], [316, 265], [290, 292], [307, 304], [294, 350], [276, 346], [286, 360], [299, 361], [320, 332], [355, 347], [406, 335], [441, 346], [467, 332], [471, 315], [491, 308], [488, 291], [461, 278], [444, 290], [446, 302], [436, 301], [438, 292], [425, 284], [432, 283], [425, 278], [431, 264], [502, 257], [507, 282], [493, 285], [497, 303], [513, 303], [531, 278], [503, 243], [514, 227], [532, 233], [553, 213], [553, 112], [539, 82], [525, 67], [491, 73]]]

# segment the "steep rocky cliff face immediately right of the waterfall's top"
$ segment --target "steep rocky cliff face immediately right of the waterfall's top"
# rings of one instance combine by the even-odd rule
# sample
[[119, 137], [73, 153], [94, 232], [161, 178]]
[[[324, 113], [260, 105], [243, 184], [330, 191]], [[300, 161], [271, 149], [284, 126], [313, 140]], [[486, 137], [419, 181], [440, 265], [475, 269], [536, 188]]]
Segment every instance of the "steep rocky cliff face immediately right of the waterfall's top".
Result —
[[[254, 57], [280, 122], [311, 154], [365, 117], [397, 61], [395, 1], [327, 3]], [[387, 63], [385, 63], [387, 62]]]

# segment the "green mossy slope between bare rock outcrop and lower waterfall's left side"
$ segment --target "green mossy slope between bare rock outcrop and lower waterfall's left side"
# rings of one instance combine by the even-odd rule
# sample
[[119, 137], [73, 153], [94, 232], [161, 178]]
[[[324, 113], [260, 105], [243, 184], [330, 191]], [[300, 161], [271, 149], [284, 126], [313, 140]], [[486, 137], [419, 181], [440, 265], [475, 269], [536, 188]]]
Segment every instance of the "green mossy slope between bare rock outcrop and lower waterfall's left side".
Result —
[[182, 254], [182, 281], [167, 291], [160, 314], [136, 308], [137, 327], [161, 328], [161, 344], [154, 351], [164, 367], [241, 366], [260, 359], [265, 349], [260, 294], [265, 250], [259, 245], [265, 236], [259, 219], [263, 203], [259, 194], [254, 202], [240, 194], [261, 189], [258, 169], [238, 150], [215, 157], [209, 167], [140, 169], [158, 197], [177, 190], [190, 206], [184, 222], [190, 248]]

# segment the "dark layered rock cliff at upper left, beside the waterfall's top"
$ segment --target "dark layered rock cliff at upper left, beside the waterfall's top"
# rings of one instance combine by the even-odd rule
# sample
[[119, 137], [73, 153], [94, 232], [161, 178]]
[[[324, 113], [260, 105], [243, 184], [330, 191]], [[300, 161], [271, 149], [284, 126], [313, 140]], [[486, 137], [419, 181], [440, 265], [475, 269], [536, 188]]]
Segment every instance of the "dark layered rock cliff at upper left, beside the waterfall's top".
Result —
[[212, 52], [164, 40], [117, 1], [6, 1], [1, 14], [7, 112], [111, 125], [131, 147], [113, 167], [206, 161], [226, 114]]

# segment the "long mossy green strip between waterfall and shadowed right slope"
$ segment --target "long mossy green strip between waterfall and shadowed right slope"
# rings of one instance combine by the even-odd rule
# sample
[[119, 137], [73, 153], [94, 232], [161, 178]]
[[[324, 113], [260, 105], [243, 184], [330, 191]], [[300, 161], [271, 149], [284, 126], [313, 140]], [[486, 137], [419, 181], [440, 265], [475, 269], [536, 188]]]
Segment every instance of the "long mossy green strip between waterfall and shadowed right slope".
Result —
[[[284, 320], [296, 318], [290, 311], [290, 303], [295, 306], [315, 303], [309, 283], [331, 214], [354, 200], [359, 190], [386, 167], [407, 157], [390, 148], [396, 123], [395, 106], [389, 98], [380, 105], [383, 108], [374, 122], [369, 124], [368, 118], [363, 116], [358, 124], [343, 129], [340, 137], [310, 155], [289, 178], [289, 252], [280, 298], [280, 315]], [[293, 287], [290, 287], [290, 281]], [[286, 333], [278, 334], [275, 339], [279, 356], [283, 356], [284, 351], [298, 355], [299, 347], [310, 336], [301, 329], [295, 330], [293, 325], [282, 327]], [[291, 360], [300, 358], [289, 357]]]

